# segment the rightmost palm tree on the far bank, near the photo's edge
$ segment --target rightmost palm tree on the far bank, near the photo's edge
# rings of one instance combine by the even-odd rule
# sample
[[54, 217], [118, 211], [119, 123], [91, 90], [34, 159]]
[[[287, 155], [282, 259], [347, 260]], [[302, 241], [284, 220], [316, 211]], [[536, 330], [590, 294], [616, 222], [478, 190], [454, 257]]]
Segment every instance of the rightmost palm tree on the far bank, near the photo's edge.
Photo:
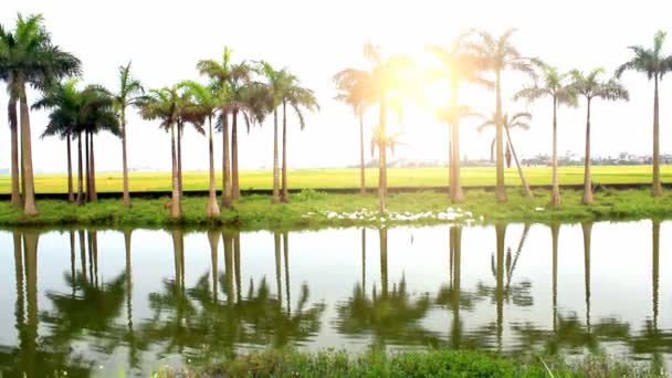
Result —
[[658, 82], [668, 72], [672, 71], [672, 55], [663, 55], [662, 48], [665, 36], [663, 31], [658, 31], [653, 36], [653, 49], [641, 45], [630, 46], [634, 53], [632, 60], [623, 63], [616, 70], [616, 77], [620, 78], [626, 71], [636, 71], [647, 74], [649, 81], [653, 78], [653, 182], [651, 195], [660, 196], [663, 188], [660, 181], [660, 116], [658, 104]]

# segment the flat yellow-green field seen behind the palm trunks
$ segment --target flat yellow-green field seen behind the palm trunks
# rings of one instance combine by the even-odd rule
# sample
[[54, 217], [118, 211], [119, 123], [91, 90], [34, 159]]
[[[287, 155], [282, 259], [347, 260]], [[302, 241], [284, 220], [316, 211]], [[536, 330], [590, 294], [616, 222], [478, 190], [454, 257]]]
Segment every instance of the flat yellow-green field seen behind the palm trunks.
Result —
[[[584, 167], [558, 167], [560, 185], [582, 183]], [[550, 185], [550, 167], [525, 167], [525, 176], [529, 185]], [[358, 188], [359, 169], [291, 169], [288, 172], [290, 188]], [[462, 185], [481, 186], [495, 185], [494, 167], [463, 167], [460, 171]], [[672, 165], [661, 166], [663, 181], [672, 181]], [[521, 185], [515, 168], [505, 169], [507, 185]], [[367, 186], [371, 189], [378, 183], [378, 169], [366, 170]], [[216, 180], [221, 189], [221, 171]], [[271, 170], [246, 170], [240, 172], [241, 189], [271, 189], [273, 176]], [[651, 182], [651, 166], [595, 166], [592, 182], [596, 183], [632, 183]], [[389, 187], [434, 187], [448, 185], [448, 168], [389, 168]], [[183, 172], [185, 190], [207, 190], [208, 172]], [[170, 190], [170, 172], [132, 172], [129, 174], [130, 191], [162, 191]], [[120, 172], [97, 172], [96, 189], [98, 192], [116, 191], [122, 197], [123, 180]], [[36, 175], [35, 190], [38, 193], [67, 192], [66, 175]], [[0, 193], [10, 192], [10, 177], [0, 177]], [[133, 197], [133, 195], [132, 195]]]

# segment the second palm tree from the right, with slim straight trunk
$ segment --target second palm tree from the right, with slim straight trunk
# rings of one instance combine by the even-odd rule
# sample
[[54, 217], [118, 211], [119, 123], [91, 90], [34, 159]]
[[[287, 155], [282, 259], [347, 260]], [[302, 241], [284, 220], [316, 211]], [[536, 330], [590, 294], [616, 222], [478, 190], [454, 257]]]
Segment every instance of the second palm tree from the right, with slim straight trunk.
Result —
[[607, 82], [600, 80], [600, 75], [605, 73], [605, 69], [595, 69], [588, 74], [574, 70], [570, 72], [574, 80], [574, 88], [576, 93], [586, 98], [586, 157], [584, 158], [584, 204], [592, 203], [592, 180], [590, 176], [590, 105], [594, 98], [602, 98], [609, 101], [630, 99], [628, 90], [618, 82], [611, 78]]

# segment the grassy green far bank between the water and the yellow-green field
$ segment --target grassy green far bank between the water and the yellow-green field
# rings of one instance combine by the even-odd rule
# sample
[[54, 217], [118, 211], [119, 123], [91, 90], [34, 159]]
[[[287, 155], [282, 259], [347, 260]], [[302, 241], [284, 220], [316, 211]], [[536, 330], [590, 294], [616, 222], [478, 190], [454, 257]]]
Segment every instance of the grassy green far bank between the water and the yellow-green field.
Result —
[[[83, 207], [64, 200], [38, 201], [40, 214], [27, 217], [9, 201], [0, 203], [0, 225], [105, 225], [105, 227], [161, 227], [167, 224], [208, 225], [224, 224], [241, 229], [269, 228], [321, 228], [380, 224], [432, 224], [448, 222], [437, 218], [396, 220], [395, 213], [411, 214], [432, 211], [434, 214], [447, 211], [449, 207], [462, 210], [464, 216], [458, 220], [473, 219], [475, 222], [495, 221], [584, 221], [600, 219], [668, 218], [672, 216], [672, 191], [654, 198], [649, 189], [597, 191], [595, 204], [580, 203], [581, 192], [563, 191], [563, 206], [559, 209], [547, 207], [549, 192], [536, 191], [529, 200], [519, 189], [508, 190], [508, 202], [495, 202], [490, 191], [472, 190], [466, 201], [451, 204], [447, 193], [424, 191], [418, 193], [396, 193], [389, 196], [389, 212], [382, 217], [375, 212], [376, 195], [333, 195], [304, 190], [294, 195], [290, 203], [272, 204], [266, 196], [242, 197], [234, 202], [233, 210], [222, 211], [221, 218], [210, 222], [206, 216], [207, 197], [187, 197], [182, 200], [183, 216], [177, 221], [169, 218], [165, 204], [168, 198], [135, 199], [132, 209], [124, 209], [122, 199], [105, 199]], [[348, 214], [368, 209], [364, 219], [349, 219]], [[543, 210], [542, 210], [543, 209]], [[469, 217], [466, 212], [472, 212]], [[329, 214], [329, 212], [334, 212]], [[481, 219], [483, 217], [483, 219]]]

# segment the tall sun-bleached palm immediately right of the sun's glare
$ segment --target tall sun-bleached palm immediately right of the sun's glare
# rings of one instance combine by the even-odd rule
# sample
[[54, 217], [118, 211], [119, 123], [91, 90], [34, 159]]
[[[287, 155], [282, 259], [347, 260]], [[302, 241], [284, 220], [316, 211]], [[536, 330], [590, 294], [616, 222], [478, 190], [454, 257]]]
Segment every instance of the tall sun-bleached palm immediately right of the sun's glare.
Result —
[[[450, 49], [443, 46], [430, 46], [428, 50], [435, 55], [441, 66], [432, 76], [439, 80], [448, 80], [451, 97], [447, 108], [458, 109], [458, 97], [463, 82], [475, 83], [492, 87], [492, 83], [481, 75], [481, 65], [477, 57], [465, 51], [464, 38], [460, 35]], [[453, 202], [462, 202], [464, 192], [460, 185], [460, 118], [444, 119], [449, 127], [449, 187], [450, 198]]]

